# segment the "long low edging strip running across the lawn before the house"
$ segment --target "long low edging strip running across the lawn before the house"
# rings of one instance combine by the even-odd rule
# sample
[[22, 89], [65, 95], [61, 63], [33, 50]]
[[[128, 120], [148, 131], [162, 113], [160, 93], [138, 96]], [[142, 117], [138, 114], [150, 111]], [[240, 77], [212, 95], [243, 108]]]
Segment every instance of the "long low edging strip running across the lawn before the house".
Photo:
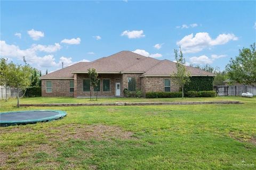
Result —
[[239, 101], [205, 101], [205, 102], [116, 102], [116, 103], [46, 103], [46, 104], [20, 104], [23, 107], [29, 106], [150, 106], [150, 105], [189, 105], [189, 104], [242, 104]]

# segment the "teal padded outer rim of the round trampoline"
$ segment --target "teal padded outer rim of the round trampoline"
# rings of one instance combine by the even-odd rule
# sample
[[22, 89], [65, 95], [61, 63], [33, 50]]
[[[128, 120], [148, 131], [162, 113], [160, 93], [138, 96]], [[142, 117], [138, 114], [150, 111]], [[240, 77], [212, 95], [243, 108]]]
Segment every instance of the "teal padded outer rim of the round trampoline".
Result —
[[34, 124], [38, 122], [50, 122], [52, 120], [58, 120], [62, 119], [67, 115], [66, 111], [62, 110], [23, 110], [23, 111], [8, 111], [8, 112], [1, 112], [0, 115], [2, 114], [11, 114], [11, 113], [17, 113], [17, 112], [32, 112], [32, 111], [52, 111], [52, 112], [57, 112], [58, 115], [54, 115], [51, 117], [45, 117], [45, 118], [40, 118], [40, 119], [27, 119], [27, 120], [14, 120], [14, 121], [1, 121], [0, 119], [0, 126], [10, 126], [10, 125], [21, 125], [21, 124]]

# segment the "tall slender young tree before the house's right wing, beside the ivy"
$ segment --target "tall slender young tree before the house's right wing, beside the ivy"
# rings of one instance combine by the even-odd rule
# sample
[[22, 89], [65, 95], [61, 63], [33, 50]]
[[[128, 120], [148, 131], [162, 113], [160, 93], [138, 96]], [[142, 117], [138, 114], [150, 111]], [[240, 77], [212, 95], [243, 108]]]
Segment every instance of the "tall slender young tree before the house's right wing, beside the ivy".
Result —
[[179, 87], [182, 88], [182, 98], [184, 98], [184, 85], [190, 82], [190, 72], [186, 71], [186, 66], [185, 66], [185, 58], [183, 58], [183, 54], [180, 48], [180, 53], [178, 54], [178, 50], [174, 49], [174, 55], [176, 59], [176, 68], [177, 72], [174, 72], [174, 76], [176, 77], [175, 83]]

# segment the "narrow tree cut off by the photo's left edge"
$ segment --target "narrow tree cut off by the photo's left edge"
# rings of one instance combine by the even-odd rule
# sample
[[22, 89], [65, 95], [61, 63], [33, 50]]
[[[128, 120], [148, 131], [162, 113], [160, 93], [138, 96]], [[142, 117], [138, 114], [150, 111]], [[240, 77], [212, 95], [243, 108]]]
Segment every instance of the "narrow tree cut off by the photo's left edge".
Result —
[[0, 61], [0, 85], [5, 88], [5, 101], [7, 101], [7, 86], [9, 85], [9, 67], [5, 58], [1, 58]]

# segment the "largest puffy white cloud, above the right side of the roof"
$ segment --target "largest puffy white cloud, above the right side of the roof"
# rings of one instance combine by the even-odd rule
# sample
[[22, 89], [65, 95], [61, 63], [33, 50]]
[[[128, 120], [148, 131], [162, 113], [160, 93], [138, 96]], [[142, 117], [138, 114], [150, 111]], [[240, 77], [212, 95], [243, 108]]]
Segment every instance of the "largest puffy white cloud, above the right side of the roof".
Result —
[[183, 37], [176, 44], [181, 46], [183, 53], [196, 53], [202, 51], [206, 47], [226, 44], [229, 41], [237, 41], [234, 34], [220, 34], [216, 39], [212, 39], [208, 33], [197, 33]]

